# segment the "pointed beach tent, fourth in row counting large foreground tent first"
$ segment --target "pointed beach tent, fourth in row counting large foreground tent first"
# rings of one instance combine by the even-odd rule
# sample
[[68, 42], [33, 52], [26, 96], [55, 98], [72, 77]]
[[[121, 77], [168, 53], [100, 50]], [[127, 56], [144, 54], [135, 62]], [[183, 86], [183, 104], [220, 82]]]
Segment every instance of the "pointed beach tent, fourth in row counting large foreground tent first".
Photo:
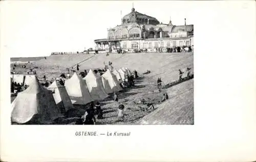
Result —
[[102, 79], [97, 77], [91, 69], [83, 79], [86, 80], [87, 87], [94, 100], [102, 100], [109, 96], [104, 90]]

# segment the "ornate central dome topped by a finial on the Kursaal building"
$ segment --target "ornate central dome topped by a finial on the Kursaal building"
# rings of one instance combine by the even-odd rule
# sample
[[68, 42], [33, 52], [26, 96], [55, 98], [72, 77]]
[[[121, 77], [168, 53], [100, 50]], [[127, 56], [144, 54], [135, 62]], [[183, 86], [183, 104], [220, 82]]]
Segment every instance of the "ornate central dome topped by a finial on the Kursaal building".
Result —
[[135, 11], [134, 8], [132, 8], [132, 12], [123, 16], [122, 18], [122, 24], [127, 24], [127, 23], [157, 25], [159, 24], [159, 21], [155, 17], [139, 13]]

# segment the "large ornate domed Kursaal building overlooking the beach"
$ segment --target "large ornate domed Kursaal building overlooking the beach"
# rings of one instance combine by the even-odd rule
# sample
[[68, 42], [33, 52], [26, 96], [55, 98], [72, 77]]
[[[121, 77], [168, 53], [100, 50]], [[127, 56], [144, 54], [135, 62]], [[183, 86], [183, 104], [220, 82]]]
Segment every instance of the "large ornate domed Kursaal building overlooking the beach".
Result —
[[173, 25], [160, 23], [151, 17], [135, 11], [122, 18], [122, 24], [108, 29], [108, 38], [94, 40], [98, 51], [116, 52], [117, 49], [130, 51], [131, 49], [156, 48], [167, 49], [173, 46], [194, 45], [194, 25]]

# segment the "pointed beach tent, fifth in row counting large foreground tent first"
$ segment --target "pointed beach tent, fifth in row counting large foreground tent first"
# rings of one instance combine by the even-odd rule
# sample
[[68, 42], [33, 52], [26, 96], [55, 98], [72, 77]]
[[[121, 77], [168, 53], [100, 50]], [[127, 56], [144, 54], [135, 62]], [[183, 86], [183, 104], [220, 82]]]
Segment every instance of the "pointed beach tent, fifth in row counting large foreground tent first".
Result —
[[109, 69], [106, 70], [106, 72], [102, 75], [102, 77], [104, 77], [106, 80], [109, 81], [110, 88], [112, 89], [113, 92], [118, 92], [122, 90], [116, 76], [112, 72], [110, 72]]

